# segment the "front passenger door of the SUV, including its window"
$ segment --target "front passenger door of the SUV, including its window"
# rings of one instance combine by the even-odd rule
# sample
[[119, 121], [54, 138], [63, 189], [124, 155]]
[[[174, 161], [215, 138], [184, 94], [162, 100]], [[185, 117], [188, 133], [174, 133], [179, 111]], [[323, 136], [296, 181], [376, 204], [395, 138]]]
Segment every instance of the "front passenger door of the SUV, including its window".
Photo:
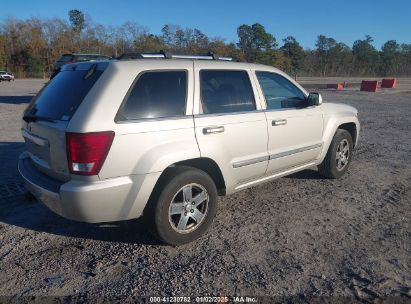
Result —
[[266, 103], [267, 173], [314, 161], [323, 145], [321, 106], [310, 106], [303, 90], [285, 75], [268, 71], [255, 71], [255, 75]]

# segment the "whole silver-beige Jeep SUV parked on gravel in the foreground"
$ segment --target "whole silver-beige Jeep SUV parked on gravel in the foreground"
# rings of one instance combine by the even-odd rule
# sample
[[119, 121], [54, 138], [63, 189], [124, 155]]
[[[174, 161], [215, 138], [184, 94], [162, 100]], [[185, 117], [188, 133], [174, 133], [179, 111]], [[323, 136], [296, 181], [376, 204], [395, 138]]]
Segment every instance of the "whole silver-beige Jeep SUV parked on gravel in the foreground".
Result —
[[218, 196], [310, 167], [347, 171], [360, 130], [353, 107], [322, 103], [270, 66], [137, 57], [63, 66], [26, 109], [18, 169], [57, 214], [143, 216], [178, 245], [206, 231]]

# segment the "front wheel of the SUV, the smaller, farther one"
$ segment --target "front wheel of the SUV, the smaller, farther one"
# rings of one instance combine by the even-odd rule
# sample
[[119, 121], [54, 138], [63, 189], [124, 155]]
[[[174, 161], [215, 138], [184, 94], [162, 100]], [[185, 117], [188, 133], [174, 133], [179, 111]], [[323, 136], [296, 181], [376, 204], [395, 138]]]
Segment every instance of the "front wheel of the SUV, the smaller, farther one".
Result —
[[[348, 150], [346, 150], [348, 147]], [[337, 129], [328, 148], [327, 155], [318, 167], [321, 175], [327, 178], [340, 178], [347, 172], [353, 151], [351, 134], [342, 129]]]

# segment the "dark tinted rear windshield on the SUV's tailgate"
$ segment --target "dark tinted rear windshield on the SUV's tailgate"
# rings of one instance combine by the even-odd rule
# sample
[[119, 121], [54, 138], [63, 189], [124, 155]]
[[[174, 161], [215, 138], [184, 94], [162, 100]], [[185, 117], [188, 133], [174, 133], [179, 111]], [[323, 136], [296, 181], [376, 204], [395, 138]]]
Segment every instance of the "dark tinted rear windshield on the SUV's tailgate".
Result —
[[62, 71], [34, 98], [25, 114], [69, 120], [103, 71]]

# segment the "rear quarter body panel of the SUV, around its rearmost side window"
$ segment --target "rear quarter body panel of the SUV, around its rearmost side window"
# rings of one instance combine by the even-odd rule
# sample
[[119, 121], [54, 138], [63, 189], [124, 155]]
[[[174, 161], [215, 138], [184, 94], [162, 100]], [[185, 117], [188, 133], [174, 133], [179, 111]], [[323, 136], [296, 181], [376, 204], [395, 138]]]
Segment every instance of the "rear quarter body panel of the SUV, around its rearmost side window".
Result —
[[[68, 132], [114, 131], [100, 179], [161, 172], [200, 156], [193, 121], [193, 64], [186, 60], [132, 60], [110, 63], [70, 121]], [[133, 81], [144, 71], [187, 70], [186, 115], [115, 122]]]

